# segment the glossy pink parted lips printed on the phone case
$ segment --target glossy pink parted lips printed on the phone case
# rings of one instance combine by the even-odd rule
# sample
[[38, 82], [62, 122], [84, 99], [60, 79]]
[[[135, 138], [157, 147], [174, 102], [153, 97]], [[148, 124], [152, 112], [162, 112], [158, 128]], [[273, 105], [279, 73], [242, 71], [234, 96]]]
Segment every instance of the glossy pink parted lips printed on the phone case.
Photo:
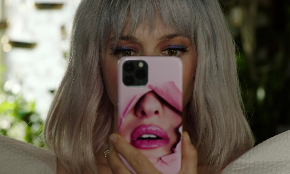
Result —
[[169, 143], [167, 133], [155, 125], [141, 125], [131, 134], [131, 144], [138, 149], [152, 149]]

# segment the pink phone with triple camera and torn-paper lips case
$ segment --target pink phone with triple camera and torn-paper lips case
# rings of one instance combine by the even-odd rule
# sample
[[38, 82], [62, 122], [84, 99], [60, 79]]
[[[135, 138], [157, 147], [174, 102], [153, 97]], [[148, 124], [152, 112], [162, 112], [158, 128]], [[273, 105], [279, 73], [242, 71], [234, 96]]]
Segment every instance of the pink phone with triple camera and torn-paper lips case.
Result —
[[182, 159], [182, 61], [165, 56], [122, 57], [118, 62], [118, 116], [122, 137], [160, 172], [178, 173]]

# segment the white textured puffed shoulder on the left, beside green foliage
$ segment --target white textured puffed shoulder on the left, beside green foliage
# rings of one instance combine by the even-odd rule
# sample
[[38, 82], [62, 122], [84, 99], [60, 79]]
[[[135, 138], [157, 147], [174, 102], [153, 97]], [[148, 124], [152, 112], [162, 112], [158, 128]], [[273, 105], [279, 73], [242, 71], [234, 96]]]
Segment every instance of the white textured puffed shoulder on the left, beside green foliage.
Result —
[[0, 135], [0, 173], [55, 174], [56, 168], [52, 151]]

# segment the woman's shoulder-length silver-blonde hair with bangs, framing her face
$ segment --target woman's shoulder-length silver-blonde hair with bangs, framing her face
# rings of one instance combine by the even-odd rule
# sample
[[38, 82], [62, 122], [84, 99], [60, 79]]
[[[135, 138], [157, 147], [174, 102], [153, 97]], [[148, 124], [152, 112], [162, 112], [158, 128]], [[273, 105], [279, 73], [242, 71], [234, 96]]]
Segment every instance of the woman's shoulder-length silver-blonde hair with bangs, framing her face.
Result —
[[197, 49], [186, 120], [199, 164], [216, 171], [253, 147], [235, 48], [217, 0], [83, 0], [75, 14], [68, 67], [44, 129], [47, 146], [71, 173], [98, 173], [97, 155], [112, 131], [113, 105], [101, 70], [109, 35], [119, 38], [126, 22], [132, 32], [145, 21], [153, 28], [156, 16], [191, 38]]

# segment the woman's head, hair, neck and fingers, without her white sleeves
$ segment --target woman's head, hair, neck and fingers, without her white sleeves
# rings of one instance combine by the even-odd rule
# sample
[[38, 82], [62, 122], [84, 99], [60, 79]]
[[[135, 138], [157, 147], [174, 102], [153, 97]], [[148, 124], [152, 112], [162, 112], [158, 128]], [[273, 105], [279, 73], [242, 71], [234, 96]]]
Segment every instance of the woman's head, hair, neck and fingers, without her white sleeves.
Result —
[[[220, 173], [253, 147], [234, 45], [217, 1], [86, 0], [75, 15], [68, 68], [44, 130], [59, 172], [125, 173], [117, 153], [132, 158], [138, 173], [157, 172], [115, 134], [117, 61], [139, 55], [177, 56], [183, 62], [183, 128], [199, 167], [192, 165], [195, 148], [184, 133], [182, 172]], [[105, 158], [104, 150], [112, 146]]]

